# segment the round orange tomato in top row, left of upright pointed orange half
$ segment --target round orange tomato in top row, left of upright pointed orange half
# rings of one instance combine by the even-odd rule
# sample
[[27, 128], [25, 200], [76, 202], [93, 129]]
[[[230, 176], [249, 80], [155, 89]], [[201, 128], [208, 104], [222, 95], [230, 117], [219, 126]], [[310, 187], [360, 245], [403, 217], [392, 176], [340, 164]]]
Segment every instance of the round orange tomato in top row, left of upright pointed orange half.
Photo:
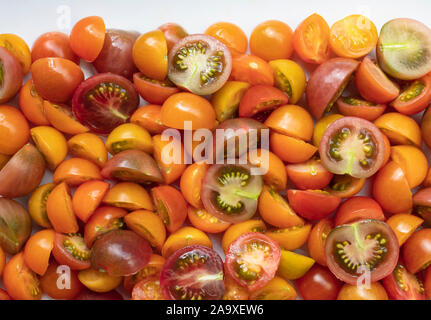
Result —
[[292, 29], [284, 22], [265, 21], [251, 33], [250, 51], [266, 61], [288, 59], [293, 53], [292, 37]]

